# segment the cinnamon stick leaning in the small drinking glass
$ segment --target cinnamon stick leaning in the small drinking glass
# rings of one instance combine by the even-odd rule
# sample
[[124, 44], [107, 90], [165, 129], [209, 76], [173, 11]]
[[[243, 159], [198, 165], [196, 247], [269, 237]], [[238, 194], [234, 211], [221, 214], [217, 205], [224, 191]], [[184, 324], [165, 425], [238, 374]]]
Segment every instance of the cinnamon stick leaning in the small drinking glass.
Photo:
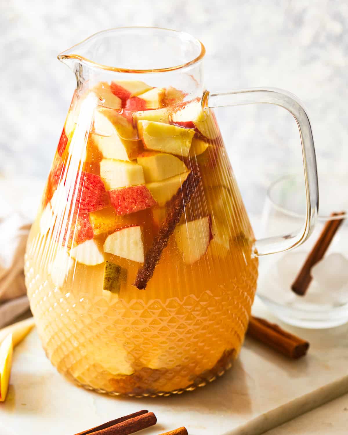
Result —
[[[331, 213], [331, 216], [341, 216], [345, 215], [345, 212], [341, 213]], [[303, 296], [309, 284], [311, 284], [311, 268], [318, 263], [323, 257], [325, 252], [327, 251], [332, 239], [334, 238], [336, 231], [340, 227], [341, 223], [344, 221], [342, 219], [335, 219], [331, 221], [327, 221], [323, 230], [320, 233], [318, 240], [313, 246], [311, 252], [308, 254], [305, 263], [303, 264], [301, 270], [298, 272], [298, 275], [291, 285], [291, 290], [296, 294]]]

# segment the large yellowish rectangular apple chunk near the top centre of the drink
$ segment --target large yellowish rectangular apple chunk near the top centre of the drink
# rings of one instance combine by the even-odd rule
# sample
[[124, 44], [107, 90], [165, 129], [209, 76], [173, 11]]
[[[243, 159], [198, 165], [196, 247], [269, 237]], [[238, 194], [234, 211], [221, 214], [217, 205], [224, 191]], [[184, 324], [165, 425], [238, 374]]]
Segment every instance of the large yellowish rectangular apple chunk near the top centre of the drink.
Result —
[[139, 134], [145, 148], [187, 157], [194, 131], [154, 121], [138, 121]]

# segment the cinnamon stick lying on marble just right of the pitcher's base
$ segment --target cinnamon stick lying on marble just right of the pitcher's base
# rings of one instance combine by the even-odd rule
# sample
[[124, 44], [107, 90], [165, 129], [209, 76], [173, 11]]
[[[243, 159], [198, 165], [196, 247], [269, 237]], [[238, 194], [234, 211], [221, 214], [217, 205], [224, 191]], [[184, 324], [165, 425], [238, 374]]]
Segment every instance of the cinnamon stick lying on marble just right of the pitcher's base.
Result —
[[247, 334], [283, 355], [297, 359], [306, 355], [309, 343], [290, 334], [280, 326], [251, 316]]

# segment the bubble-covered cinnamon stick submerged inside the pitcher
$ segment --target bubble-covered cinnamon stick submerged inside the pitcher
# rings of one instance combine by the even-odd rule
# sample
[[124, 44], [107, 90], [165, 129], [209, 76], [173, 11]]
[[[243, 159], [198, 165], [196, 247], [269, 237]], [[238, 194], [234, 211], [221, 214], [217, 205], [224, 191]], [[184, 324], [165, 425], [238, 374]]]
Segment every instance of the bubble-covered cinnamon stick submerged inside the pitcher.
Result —
[[139, 288], [139, 290], [144, 290], [147, 286], [147, 282], [152, 278], [156, 264], [161, 258], [162, 251], [167, 246], [171, 234], [180, 221], [181, 214], [184, 213], [185, 207], [190, 202], [191, 196], [196, 191], [200, 182], [201, 178], [191, 172], [181, 188], [171, 199], [166, 217], [161, 223], [161, 227], [152, 242], [152, 246], [145, 256], [144, 266], [138, 270], [137, 277], [135, 278], [133, 285]]

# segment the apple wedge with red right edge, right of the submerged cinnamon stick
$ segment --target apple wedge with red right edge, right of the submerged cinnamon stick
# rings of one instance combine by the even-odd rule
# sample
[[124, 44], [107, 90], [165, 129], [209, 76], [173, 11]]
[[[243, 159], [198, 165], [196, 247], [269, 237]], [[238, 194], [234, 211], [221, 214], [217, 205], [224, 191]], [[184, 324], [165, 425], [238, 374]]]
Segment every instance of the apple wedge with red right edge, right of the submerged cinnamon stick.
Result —
[[212, 238], [210, 216], [175, 228], [177, 247], [184, 254], [186, 264], [193, 264], [203, 257]]

